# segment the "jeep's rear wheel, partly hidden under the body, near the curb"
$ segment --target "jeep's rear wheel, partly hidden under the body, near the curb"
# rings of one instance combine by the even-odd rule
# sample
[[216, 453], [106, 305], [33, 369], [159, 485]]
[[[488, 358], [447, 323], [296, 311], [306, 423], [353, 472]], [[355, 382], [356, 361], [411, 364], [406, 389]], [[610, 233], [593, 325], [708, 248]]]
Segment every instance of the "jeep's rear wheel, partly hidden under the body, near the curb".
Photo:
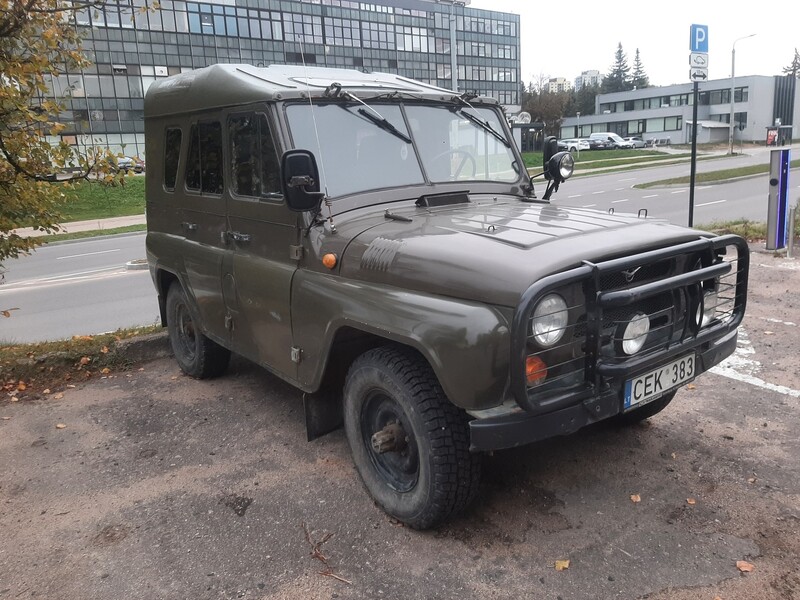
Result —
[[228, 368], [230, 351], [200, 333], [186, 292], [177, 281], [167, 291], [167, 330], [175, 360], [187, 375], [218, 377]]

